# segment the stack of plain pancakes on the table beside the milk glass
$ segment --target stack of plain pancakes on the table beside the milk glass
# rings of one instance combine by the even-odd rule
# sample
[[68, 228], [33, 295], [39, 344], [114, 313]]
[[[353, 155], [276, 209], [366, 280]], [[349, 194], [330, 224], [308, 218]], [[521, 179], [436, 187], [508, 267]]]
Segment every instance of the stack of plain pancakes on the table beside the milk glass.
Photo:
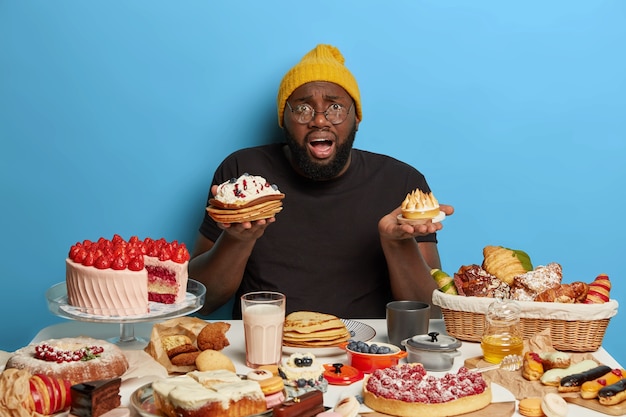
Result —
[[283, 344], [290, 347], [336, 347], [350, 339], [343, 321], [331, 314], [295, 311], [285, 317]]

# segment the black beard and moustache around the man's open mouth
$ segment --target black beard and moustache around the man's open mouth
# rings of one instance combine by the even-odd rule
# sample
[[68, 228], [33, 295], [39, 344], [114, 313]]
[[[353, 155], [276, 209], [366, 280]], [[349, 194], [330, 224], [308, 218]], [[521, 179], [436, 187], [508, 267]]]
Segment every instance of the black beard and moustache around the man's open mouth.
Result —
[[355, 137], [356, 126], [353, 126], [348, 136], [346, 136], [345, 142], [342, 144], [339, 144], [339, 142], [335, 143], [337, 153], [334, 158], [327, 164], [320, 164], [311, 159], [306, 145], [299, 145], [291, 133], [285, 129], [285, 139], [291, 151], [292, 163], [298, 167], [302, 175], [314, 181], [330, 180], [341, 173], [350, 160], [350, 152], [352, 151]]

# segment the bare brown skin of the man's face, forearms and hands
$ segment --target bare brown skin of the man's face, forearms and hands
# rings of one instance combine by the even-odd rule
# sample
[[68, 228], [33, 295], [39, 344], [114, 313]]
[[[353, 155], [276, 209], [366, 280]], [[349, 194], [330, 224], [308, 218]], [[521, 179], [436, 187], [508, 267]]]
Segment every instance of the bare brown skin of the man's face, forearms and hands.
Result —
[[[331, 164], [337, 157], [337, 148], [342, 144], [351, 147], [351, 134], [358, 130], [360, 120], [352, 109], [345, 121], [333, 125], [323, 112], [333, 103], [349, 108], [353, 101], [350, 95], [339, 85], [329, 82], [311, 82], [298, 87], [289, 97], [292, 107], [307, 103], [316, 110], [308, 124], [296, 123], [291, 111], [286, 108], [284, 128], [289, 133], [292, 146], [298, 146], [310, 158], [313, 166]], [[319, 111], [319, 113], [317, 112]], [[289, 146], [284, 147], [285, 157], [290, 161], [297, 175], [305, 175], [292, 156]], [[337, 164], [336, 164], [337, 165]], [[350, 166], [349, 157], [334, 175], [343, 175]], [[326, 171], [325, 171], [326, 172]], [[215, 195], [217, 186], [211, 193]], [[441, 205], [447, 215], [454, 213], [454, 208]], [[399, 224], [398, 206], [378, 222], [380, 242], [387, 260], [391, 290], [395, 299], [431, 300], [432, 292], [437, 288], [430, 276], [432, 268], [441, 268], [437, 245], [431, 242], [416, 242], [416, 236], [423, 236], [442, 229], [442, 224], [426, 223], [421, 225]], [[255, 242], [276, 218], [244, 223], [220, 223], [224, 231], [213, 242], [201, 234], [198, 235], [189, 262], [189, 275], [202, 282], [211, 291], [207, 291], [201, 313], [208, 314], [226, 302], [235, 294], [243, 278], [246, 262]], [[440, 310], [433, 306], [433, 317], [440, 316]]]

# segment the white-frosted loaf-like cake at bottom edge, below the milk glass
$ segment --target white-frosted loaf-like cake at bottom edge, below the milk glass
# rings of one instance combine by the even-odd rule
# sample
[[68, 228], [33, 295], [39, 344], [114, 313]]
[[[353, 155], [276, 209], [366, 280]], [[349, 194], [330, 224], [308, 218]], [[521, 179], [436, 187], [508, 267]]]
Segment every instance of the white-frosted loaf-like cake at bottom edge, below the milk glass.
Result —
[[158, 379], [152, 390], [155, 405], [168, 417], [238, 417], [267, 410], [256, 381], [226, 370]]

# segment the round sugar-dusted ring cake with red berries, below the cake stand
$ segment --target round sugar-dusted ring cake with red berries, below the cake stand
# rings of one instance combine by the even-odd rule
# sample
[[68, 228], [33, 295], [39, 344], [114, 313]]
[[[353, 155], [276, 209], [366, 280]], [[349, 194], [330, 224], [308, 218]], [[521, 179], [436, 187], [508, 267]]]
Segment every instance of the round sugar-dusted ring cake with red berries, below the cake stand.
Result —
[[6, 369], [10, 368], [80, 384], [120, 377], [128, 369], [128, 361], [112, 343], [75, 337], [49, 339], [18, 349], [7, 361]]

